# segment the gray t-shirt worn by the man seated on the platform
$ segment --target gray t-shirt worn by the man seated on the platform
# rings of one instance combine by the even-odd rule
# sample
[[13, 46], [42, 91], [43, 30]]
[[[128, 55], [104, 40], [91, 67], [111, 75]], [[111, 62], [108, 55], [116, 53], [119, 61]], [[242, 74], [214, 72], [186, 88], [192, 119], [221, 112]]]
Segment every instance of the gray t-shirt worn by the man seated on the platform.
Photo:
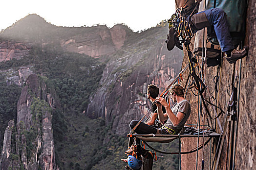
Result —
[[173, 107], [171, 108], [171, 111], [175, 116], [177, 115], [178, 112], [182, 112], [185, 114], [184, 118], [181, 120], [181, 122], [177, 126], [173, 126], [169, 118], [167, 119], [167, 122], [164, 125], [165, 127], [171, 128], [176, 132], [176, 134], [178, 134], [190, 116], [190, 112], [191, 112], [190, 103], [186, 99], [181, 102], [177, 102], [173, 105]]

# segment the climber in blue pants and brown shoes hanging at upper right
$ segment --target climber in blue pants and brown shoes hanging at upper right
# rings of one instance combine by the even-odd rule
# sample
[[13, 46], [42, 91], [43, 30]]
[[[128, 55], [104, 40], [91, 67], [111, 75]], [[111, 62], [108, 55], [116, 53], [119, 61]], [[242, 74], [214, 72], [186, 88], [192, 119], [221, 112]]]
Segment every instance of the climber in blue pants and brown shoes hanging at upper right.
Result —
[[[192, 33], [208, 27], [209, 29], [213, 26], [218, 39], [221, 51], [224, 52], [225, 58], [229, 63], [235, 63], [236, 60], [243, 58], [248, 53], [248, 46], [245, 46], [242, 50], [236, 50], [232, 43], [232, 37], [229, 32], [229, 25], [227, 21], [226, 13], [219, 8], [208, 9], [197, 13], [194, 8], [198, 7], [197, 3], [202, 0], [175, 0], [176, 9], [183, 8], [185, 18], [191, 25]], [[178, 47], [179, 43], [177, 38], [173, 37], [175, 31], [174, 28], [170, 28], [169, 36], [167, 40], [168, 50], [172, 50], [174, 45]]]

